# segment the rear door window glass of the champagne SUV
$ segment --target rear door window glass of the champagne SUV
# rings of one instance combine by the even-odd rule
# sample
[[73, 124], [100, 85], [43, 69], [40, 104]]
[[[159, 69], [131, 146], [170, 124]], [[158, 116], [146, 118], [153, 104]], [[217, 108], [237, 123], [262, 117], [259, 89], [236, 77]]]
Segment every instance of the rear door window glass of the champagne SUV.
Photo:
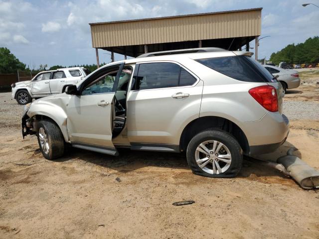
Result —
[[132, 90], [190, 86], [196, 82], [191, 74], [177, 64], [169, 62], [140, 64]]

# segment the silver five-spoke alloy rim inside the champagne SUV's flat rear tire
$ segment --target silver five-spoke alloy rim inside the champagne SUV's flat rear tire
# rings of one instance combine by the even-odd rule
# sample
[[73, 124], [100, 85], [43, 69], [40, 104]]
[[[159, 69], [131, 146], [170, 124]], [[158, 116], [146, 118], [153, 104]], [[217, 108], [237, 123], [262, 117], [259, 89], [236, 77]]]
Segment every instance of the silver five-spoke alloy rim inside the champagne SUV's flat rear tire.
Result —
[[206, 173], [221, 174], [231, 164], [231, 153], [228, 147], [217, 140], [200, 143], [195, 151], [197, 165]]

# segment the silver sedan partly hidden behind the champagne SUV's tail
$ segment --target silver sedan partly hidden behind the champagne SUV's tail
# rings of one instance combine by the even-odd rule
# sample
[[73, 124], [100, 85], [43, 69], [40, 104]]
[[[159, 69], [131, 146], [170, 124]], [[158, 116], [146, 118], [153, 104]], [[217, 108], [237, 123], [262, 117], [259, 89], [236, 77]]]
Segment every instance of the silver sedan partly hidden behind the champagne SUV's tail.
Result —
[[296, 70], [286, 70], [276, 66], [264, 65], [264, 67], [274, 76], [278, 76], [277, 80], [283, 87], [283, 96], [287, 89], [294, 89], [300, 86], [299, 73]]

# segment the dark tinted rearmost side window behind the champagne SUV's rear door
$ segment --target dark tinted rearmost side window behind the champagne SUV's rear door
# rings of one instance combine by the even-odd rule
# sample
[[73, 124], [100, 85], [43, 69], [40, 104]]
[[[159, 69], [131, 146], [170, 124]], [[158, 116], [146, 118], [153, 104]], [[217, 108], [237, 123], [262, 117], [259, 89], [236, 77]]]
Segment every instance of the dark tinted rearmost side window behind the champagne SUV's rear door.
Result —
[[248, 56], [226, 56], [198, 59], [197, 62], [239, 81], [275, 82], [265, 67]]

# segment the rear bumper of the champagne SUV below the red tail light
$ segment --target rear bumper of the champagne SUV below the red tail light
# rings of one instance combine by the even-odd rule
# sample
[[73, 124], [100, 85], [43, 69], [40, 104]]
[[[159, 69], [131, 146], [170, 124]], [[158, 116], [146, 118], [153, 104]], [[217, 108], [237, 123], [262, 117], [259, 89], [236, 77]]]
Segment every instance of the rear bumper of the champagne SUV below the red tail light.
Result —
[[250, 148], [250, 155], [275, 151], [289, 134], [289, 119], [279, 112], [268, 112], [261, 120], [238, 124], [244, 131]]

